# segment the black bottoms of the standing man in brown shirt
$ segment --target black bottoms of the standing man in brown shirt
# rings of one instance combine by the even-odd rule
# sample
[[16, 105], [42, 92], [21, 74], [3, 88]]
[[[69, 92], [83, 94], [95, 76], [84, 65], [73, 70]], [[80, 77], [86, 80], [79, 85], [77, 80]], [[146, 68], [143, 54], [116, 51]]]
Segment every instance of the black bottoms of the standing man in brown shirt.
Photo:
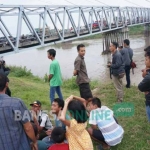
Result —
[[89, 83], [80, 84], [79, 90], [80, 90], [80, 96], [85, 100], [88, 100], [89, 98], [93, 97]]

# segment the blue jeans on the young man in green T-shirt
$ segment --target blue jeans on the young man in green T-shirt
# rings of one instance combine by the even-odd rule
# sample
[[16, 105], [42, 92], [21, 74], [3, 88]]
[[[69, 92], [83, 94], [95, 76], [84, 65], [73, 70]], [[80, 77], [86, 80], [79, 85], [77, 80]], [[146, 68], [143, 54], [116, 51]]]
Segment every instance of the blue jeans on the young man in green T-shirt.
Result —
[[51, 104], [52, 104], [53, 100], [55, 99], [55, 92], [57, 93], [58, 97], [63, 100], [63, 96], [62, 96], [62, 93], [61, 93], [60, 86], [51, 86], [50, 87]]

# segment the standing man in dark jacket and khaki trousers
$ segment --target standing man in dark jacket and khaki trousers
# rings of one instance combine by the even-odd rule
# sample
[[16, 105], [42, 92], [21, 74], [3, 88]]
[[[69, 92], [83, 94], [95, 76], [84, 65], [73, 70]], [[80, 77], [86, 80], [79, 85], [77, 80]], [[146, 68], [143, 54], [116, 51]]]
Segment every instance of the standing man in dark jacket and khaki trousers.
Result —
[[124, 76], [124, 62], [119, 51], [117, 51], [118, 43], [112, 42], [110, 44], [110, 51], [112, 53], [112, 63], [108, 64], [111, 68], [112, 80], [117, 90], [117, 101], [123, 101], [123, 83], [122, 78]]

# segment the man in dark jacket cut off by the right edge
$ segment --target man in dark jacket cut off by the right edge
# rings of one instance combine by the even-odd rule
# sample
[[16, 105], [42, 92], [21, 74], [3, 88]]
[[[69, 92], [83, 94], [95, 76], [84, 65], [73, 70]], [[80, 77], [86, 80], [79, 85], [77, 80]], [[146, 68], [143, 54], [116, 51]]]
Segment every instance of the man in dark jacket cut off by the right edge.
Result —
[[141, 92], [145, 93], [145, 104], [148, 121], [150, 122], [150, 46], [145, 54], [146, 68], [143, 70], [143, 80], [139, 83], [138, 88]]

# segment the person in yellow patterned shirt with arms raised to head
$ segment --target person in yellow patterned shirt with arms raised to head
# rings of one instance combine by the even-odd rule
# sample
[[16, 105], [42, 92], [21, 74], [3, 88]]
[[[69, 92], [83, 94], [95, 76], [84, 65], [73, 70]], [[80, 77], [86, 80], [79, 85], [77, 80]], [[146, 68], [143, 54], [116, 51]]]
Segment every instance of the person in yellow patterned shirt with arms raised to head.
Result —
[[[73, 119], [66, 119], [67, 109]], [[65, 106], [59, 118], [66, 126], [66, 138], [69, 150], [93, 150], [92, 140], [86, 130], [87, 112], [84, 104], [73, 96], [65, 100]]]

